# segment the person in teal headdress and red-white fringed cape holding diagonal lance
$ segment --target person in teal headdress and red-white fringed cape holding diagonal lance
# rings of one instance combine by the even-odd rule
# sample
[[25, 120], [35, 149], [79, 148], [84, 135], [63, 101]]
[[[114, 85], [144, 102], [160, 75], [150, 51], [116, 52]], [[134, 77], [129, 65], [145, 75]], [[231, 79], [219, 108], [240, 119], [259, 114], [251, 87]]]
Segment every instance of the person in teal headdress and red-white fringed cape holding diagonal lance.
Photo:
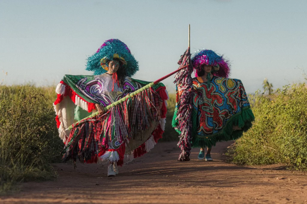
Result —
[[[115, 176], [118, 166], [150, 151], [162, 137], [168, 95], [157, 83], [130, 97], [150, 82], [130, 78], [138, 71], [138, 61], [119, 39], [105, 41], [88, 57], [86, 70], [94, 74], [65, 75], [56, 87], [54, 109], [65, 144], [63, 161], [73, 159], [76, 166], [77, 159], [107, 160], [107, 176]], [[125, 96], [105, 112], [106, 106]], [[99, 115], [82, 120], [97, 110]], [[79, 122], [69, 130], [75, 121]]]

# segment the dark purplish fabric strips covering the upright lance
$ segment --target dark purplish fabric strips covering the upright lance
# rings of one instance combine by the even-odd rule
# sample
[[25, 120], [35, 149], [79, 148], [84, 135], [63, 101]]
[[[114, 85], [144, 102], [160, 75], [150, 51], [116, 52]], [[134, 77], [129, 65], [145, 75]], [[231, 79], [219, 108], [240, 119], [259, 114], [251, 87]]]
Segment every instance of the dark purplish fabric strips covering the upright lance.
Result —
[[178, 161], [189, 161], [189, 155], [191, 152], [191, 133], [192, 133], [192, 77], [193, 67], [191, 64], [190, 48], [188, 48], [183, 55], [181, 55], [178, 61], [179, 68], [190, 64], [186, 69], [182, 69], [175, 76], [177, 87], [182, 90], [181, 96], [178, 102], [177, 118], [178, 125], [175, 129], [180, 130], [180, 140], [177, 144], [181, 149]]

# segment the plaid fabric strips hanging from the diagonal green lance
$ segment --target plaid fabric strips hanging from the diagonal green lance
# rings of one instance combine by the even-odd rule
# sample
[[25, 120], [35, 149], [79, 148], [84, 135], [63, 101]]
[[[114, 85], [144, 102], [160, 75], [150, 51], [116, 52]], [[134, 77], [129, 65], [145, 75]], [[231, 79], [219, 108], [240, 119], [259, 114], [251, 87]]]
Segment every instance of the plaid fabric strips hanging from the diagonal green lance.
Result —
[[[81, 162], [97, 162], [97, 158], [108, 151], [107, 141], [115, 136], [119, 142], [129, 140], [133, 132], [144, 131], [152, 127], [152, 121], [160, 121], [162, 116], [165, 118], [164, 101], [167, 99], [165, 87], [156, 90], [150, 88], [114, 106], [102, 116], [97, 115], [77, 123], [66, 140], [63, 161], [71, 158], [76, 161], [79, 158]], [[158, 126], [160, 130], [160, 124]], [[159, 131], [160, 135], [155, 138], [160, 138], [163, 132]]]

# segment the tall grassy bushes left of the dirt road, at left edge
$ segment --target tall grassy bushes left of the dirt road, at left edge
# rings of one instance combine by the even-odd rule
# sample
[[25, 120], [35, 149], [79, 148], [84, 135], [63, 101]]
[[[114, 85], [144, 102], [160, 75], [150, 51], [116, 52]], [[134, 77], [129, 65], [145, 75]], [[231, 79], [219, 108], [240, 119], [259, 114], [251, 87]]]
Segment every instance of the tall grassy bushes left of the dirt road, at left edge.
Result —
[[0, 190], [20, 181], [56, 177], [50, 162], [59, 161], [63, 144], [52, 92], [53, 87], [0, 86]]

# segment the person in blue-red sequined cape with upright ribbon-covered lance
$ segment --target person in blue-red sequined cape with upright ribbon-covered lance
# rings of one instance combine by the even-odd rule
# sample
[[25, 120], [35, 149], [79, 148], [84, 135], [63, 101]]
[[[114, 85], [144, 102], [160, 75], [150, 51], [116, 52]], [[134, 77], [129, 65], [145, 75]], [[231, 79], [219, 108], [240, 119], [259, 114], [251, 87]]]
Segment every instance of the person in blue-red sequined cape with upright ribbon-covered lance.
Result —
[[[198, 159], [212, 161], [210, 151], [217, 142], [238, 139], [252, 126], [251, 111], [243, 84], [227, 78], [229, 62], [212, 50], [201, 50], [190, 59], [190, 50], [178, 64], [192, 66], [176, 75], [177, 97], [172, 126], [180, 134], [178, 161], [189, 161], [190, 150], [200, 147]], [[191, 64], [191, 63], [190, 63]], [[192, 71], [195, 78], [191, 78]]]

